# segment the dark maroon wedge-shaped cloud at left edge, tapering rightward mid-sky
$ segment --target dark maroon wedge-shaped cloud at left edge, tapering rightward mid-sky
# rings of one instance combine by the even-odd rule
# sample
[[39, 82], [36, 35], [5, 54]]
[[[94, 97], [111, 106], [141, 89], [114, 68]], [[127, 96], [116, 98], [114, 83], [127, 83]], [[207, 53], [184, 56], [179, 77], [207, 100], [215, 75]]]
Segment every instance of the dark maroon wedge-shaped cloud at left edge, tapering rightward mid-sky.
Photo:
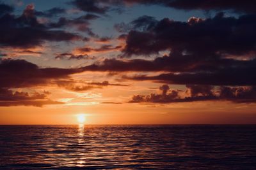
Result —
[[26, 60], [0, 60], [0, 88], [22, 88], [49, 85], [81, 69], [40, 68]]

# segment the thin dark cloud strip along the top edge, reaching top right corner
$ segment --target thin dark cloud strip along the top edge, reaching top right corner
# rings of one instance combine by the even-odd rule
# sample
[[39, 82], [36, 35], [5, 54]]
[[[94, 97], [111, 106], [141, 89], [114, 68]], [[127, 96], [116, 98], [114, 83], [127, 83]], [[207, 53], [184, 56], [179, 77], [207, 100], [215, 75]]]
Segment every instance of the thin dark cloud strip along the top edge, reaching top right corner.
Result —
[[256, 13], [255, 1], [221, 1], [221, 0], [74, 0], [72, 3], [79, 10], [105, 14], [107, 11], [122, 12], [122, 8], [129, 4], [159, 5], [179, 10], [223, 11], [238, 13]]

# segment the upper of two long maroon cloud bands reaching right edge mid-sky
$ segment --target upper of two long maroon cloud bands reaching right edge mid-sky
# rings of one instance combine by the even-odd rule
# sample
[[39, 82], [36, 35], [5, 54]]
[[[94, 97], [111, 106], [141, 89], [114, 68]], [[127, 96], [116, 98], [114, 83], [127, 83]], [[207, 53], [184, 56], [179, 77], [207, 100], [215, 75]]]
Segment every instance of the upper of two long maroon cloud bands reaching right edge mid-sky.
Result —
[[[172, 72], [202, 72], [214, 71], [253, 71], [256, 60], [235, 60], [206, 58], [195, 55], [164, 55], [154, 60], [145, 59], [105, 59], [91, 66], [84, 67], [88, 71], [172, 71]], [[246, 70], [247, 69], [247, 70]], [[202, 72], [203, 73], [203, 72]]]

